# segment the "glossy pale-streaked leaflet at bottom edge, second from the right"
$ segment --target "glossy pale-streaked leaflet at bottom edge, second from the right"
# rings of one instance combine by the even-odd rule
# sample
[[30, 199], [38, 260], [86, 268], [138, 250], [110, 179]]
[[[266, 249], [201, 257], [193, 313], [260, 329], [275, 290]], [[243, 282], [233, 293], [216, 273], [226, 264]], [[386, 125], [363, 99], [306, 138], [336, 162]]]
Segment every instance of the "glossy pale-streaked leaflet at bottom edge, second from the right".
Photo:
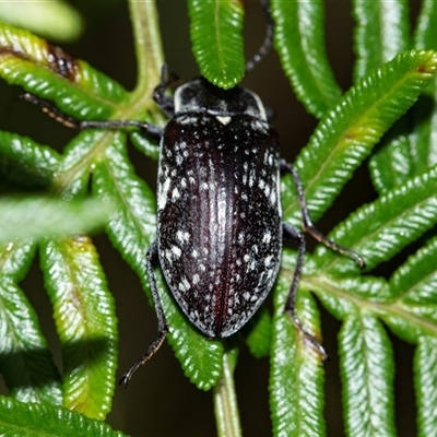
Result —
[[391, 344], [381, 323], [356, 308], [339, 334], [347, 436], [395, 436]]

